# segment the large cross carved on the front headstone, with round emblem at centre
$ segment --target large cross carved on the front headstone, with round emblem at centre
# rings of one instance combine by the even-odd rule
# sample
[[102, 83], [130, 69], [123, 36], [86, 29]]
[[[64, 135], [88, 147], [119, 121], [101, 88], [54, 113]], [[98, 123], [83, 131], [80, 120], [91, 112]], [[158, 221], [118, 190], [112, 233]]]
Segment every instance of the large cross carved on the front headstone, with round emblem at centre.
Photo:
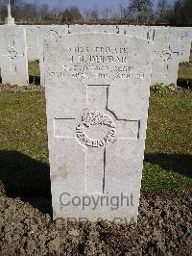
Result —
[[87, 86], [80, 118], [54, 117], [54, 137], [75, 139], [85, 150], [85, 192], [106, 193], [108, 146], [117, 140], [139, 140], [140, 120], [119, 118], [108, 109], [109, 86]]

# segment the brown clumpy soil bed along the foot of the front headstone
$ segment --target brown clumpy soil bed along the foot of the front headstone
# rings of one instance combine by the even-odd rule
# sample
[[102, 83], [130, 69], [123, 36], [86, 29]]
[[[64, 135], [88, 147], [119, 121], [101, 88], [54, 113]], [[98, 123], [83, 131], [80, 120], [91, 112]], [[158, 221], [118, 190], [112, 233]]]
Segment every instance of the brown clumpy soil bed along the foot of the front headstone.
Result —
[[53, 221], [50, 203], [1, 190], [0, 255], [192, 255], [192, 191], [142, 192], [131, 226]]

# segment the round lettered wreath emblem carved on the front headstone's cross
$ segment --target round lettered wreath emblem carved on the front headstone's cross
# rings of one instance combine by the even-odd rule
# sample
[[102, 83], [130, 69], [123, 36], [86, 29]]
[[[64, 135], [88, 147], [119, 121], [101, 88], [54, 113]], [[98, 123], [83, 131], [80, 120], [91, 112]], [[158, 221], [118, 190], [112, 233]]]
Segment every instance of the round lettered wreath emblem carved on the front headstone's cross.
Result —
[[[91, 128], [91, 126], [96, 126], [96, 125], [100, 127], [102, 126], [108, 127], [108, 132], [104, 138], [102, 139], [89, 138], [85, 134], [85, 129], [89, 129]], [[116, 141], [115, 139], [116, 129], [115, 129], [114, 121], [109, 115], [99, 111], [85, 110], [84, 115], [82, 115], [82, 123], [76, 127], [76, 133], [77, 133], [78, 141], [83, 143], [85, 146], [102, 147]]]

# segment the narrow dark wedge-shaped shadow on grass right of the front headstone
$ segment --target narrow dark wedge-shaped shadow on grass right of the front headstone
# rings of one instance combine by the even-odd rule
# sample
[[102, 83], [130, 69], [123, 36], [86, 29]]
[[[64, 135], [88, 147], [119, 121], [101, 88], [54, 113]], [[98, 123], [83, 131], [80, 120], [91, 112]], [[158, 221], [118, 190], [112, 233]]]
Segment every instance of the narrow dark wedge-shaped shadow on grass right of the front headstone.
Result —
[[192, 155], [145, 154], [144, 161], [192, 178]]

